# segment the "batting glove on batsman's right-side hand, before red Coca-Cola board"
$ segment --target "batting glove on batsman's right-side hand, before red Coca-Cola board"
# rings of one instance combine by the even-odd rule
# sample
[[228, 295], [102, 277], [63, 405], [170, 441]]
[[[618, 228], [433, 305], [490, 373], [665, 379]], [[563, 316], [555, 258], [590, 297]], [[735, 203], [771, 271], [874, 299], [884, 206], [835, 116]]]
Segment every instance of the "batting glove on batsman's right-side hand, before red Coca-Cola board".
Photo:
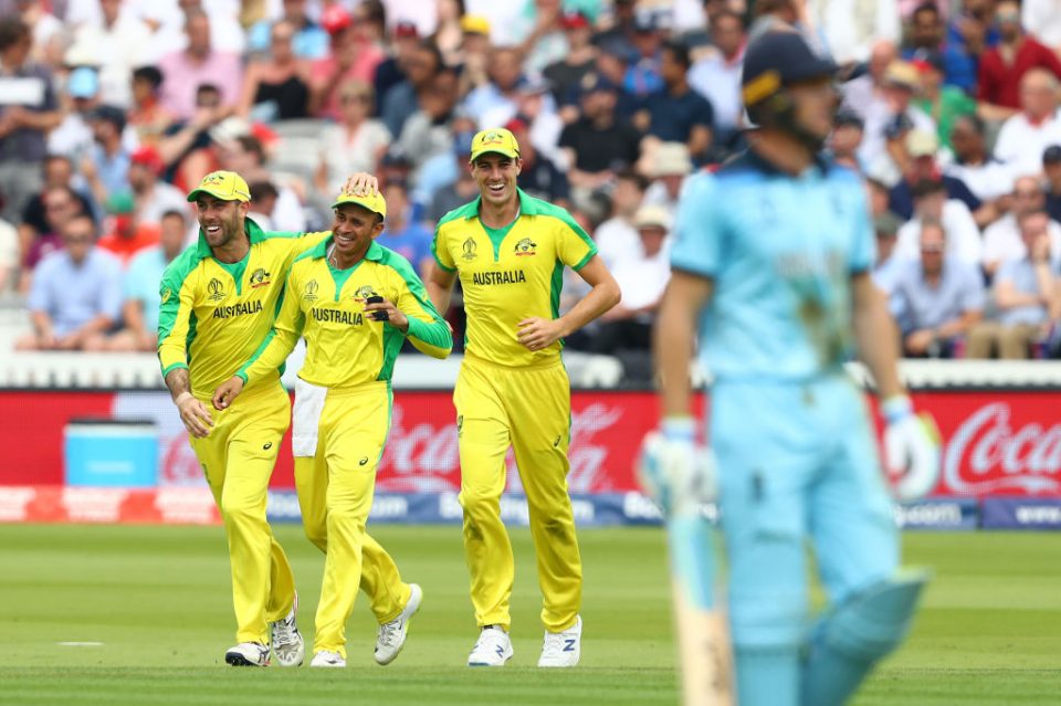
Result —
[[884, 463], [889, 475], [897, 477], [895, 495], [916, 500], [936, 487], [939, 481], [939, 430], [928, 413], [914, 414], [905, 394], [884, 400], [881, 412], [884, 429]]

